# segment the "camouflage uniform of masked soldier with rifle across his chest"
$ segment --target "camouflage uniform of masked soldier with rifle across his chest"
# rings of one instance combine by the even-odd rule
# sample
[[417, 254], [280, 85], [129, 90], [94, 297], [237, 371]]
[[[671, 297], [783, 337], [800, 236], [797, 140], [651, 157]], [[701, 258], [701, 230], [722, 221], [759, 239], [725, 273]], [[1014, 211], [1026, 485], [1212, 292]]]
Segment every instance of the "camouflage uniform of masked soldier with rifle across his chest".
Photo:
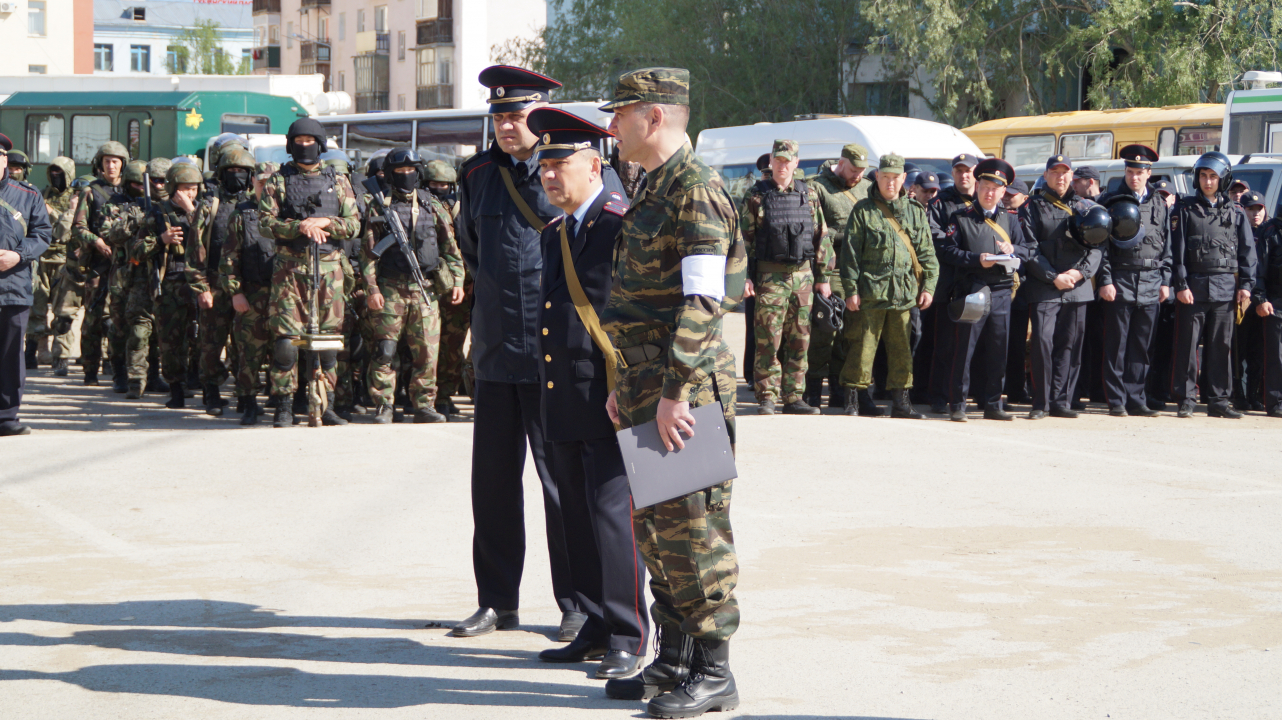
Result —
[[[400, 191], [392, 191], [390, 199], [392, 209], [399, 209], [409, 202], [412, 196]], [[369, 215], [365, 229], [365, 241], [362, 245], [360, 275], [364, 281], [365, 296], [381, 293], [383, 296], [382, 310], [367, 310], [365, 323], [369, 325], [369, 340], [373, 343], [391, 342], [399, 343], [401, 340], [409, 346], [410, 373], [406, 391], [415, 411], [432, 409], [436, 404], [436, 364], [437, 351], [441, 343], [441, 314], [437, 291], [446, 295], [463, 283], [463, 255], [459, 252], [459, 243], [454, 240], [454, 223], [450, 210], [431, 192], [417, 191], [417, 213], [432, 213], [436, 219], [436, 243], [440, 263], [431, 274], [424, 273], [428, 282], [428, 297], [423, 300], [418, 283], [409, 274], [388, 272], [381, 266], [374, 258], [373, 250], [378, 241], [387, 234], [382, 217]], [[405, 223], [405, 232], [413, 232], [413, 222]], [[409, 236], [410, 243], [417, 249], [418, 241]], [[388, 249], [387, 252], [400, 252], [399, 247]], [[387, 258], [387, 254], [385, 254]], [[396, 391], [396, 370], [391, 364], [391, 355], [373, 350], [374, 361], [369, 365], [369, 397], [376, 406], [391, 407]]]

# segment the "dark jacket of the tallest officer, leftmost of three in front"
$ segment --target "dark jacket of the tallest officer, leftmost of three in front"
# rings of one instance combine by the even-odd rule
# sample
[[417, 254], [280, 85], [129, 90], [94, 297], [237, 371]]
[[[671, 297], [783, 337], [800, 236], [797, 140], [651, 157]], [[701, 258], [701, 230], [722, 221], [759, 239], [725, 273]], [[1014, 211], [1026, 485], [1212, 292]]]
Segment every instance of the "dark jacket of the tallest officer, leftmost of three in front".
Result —
[[[499, 168], [508, 168], [517, 192], [542, 222], [560, 210], [547, 202], [535, 154], [520, 161], [499, 149], [469, 158], [459, 169], [459, 249], [476, 278], [472, 306], [472, 364], [481, 380], [538, 380], [540, 233], [508, 195]], [[623, 193], [618, 176], [601, 169], [606, 192]]]

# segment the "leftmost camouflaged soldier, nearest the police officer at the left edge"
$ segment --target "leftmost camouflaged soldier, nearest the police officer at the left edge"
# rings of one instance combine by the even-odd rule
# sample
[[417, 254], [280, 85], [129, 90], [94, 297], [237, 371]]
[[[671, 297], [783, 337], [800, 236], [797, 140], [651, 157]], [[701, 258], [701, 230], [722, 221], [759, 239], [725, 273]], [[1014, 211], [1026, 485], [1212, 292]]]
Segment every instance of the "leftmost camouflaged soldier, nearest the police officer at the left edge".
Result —
[[[45, 209], [49, 210], [49, 222], [54, 225], [53, 241], [49, 250], [40, 256], [40, 265], [33, 275], [31, 324], [27, 325], [27, 368], [36, 366], [37, 346], [44, 345], [46, 338], [53, 337], [53, 364], [59, 374], [67, 374], [67, 359], [72, 354], [71, 323], [49, 323], [51, 295], [54, 283], [59, 282], [63, 266], [67, 265], [67, 240], [72, 232], [72, 215], [76, 208], [76, 191], [72, 188], [72, 178], [76, 177], [76, 163], [71, 158], [58, 156], [45, 170], [49, 186], [45, 187]], [[56, 319], [56, 316], [55, 316]], [[62, 325], [65, 324], [65, 329]], [[54, 331], [63, 331], [56, 333]], [[49, 363], [40, 357], [38, 360]]]

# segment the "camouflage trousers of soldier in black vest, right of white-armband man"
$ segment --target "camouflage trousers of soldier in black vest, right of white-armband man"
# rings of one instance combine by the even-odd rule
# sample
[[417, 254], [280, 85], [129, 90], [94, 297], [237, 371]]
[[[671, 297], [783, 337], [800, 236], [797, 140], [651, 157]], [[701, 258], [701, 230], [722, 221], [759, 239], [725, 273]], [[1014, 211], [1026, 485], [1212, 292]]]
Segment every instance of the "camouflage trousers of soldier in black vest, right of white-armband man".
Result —
[[[808, 266], [787, 273], [759, 272], [755, 290], [753, 386], [756, 401], [782, 398], [783, 402], [792, 402], [805, 389], [814, 275]], [[783, 356], [782, 364], [779, 355]]]

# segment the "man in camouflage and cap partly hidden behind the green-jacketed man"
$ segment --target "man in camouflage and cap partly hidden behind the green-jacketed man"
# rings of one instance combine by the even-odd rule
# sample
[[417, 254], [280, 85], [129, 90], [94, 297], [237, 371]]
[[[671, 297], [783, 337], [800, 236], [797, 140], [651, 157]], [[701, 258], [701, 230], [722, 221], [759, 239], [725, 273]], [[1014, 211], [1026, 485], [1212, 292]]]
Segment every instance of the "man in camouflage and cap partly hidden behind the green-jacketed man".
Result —
[[[841, 251], [846, 242], [846, 220], [850, 211], [872, 188], [872, 182], [864, 178], [868, 169], [868, 149], [858, 142], [851, 142], [841, 149], [841, 159], [833, 164], [824, 164], [819, 168], [814, 181], [806, 183], [819, 196], [819, 209], [823, 210], [823, 219], [828, 223], [828, 234], [832, 240], [835, 264], [828, 282], [832, 286], [832, 295], [845, 300], [846, 291], [836, 268], [841, 264]], [[855, 319], [850, 318], [850, 324]], [[828, 378], [828, 406], [845, 407], [846, 393], [841, 388], [841, 366], [846, 361], [846, 341], [841, 334], [820, 328], [810, 328], [810, 351], [806, 356], [805, 395], [803, 400], [808, 405], [818, 406], [823, 398], [823, 379]]]

